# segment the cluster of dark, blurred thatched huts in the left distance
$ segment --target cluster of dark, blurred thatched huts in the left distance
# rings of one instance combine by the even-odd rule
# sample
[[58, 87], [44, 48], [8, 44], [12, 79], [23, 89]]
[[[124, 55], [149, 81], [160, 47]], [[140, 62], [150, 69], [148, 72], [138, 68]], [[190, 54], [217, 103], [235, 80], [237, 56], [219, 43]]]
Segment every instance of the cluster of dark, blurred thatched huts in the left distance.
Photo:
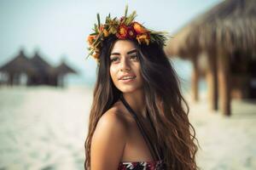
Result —
[[[64, 77], [68, 73], [77, 74], [77, 71], [73, 70], [73, 68], [68, 66], [64, 61], [61, 62], [61, 65], [56, 67], [49, 65], [38, 51], [29, 59], [24, 54], [23, 49], [21, 49], [20, 54], [0, 67], [0, 83], [7, 83], [9, 85], [25, 84], [28, 86], [50, 85], [63, 87]], [[4, 77], [4, 80], [2, 80], [2, 77]], [[20, 81], [24, 79], [24, 77], [26, 80]], [[8, 80], [6, 81], [5, 79]]]

